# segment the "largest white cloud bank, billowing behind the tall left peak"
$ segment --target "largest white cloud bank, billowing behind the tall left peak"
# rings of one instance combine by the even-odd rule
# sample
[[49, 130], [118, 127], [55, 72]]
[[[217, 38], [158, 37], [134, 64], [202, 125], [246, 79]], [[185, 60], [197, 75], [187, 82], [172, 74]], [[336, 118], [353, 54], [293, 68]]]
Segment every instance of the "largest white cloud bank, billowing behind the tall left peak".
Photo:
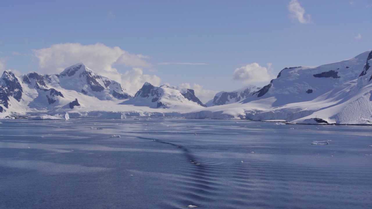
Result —
[[[130, 54], [118, 46], [104, 44], [82, 45], [80, 43], [55, 44], [49, 48], [34, 49], [33, 56], [39, 61], [40, 73], [61, 73], [65, 68], [84, 63], [94, 72], [118, 81], [130, 93], [135, 93], [144, 82], [158, 85], [160, 78], [156, 75], [143, 74], [142, 68], [151, 67], [141, 54]], [[124, 74], [119, 73], [113, 65], [133, 67]]]

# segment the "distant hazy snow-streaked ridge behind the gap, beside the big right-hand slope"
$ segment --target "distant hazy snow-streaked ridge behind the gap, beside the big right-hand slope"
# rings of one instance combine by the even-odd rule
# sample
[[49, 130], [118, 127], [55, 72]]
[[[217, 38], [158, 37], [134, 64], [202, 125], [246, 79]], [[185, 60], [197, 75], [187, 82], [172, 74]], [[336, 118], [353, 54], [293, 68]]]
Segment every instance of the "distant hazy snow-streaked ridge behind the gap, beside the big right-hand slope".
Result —
[[227, 105], [235, 102], [239, 102], [247, 97], [251, 96], [254, 92], [260, 90], [261, 87], [257, 87], [254, 85], [244, 86], [241, 89], [235, 91], [221, 91], [217, 93], [214, 98], [205, 105], [207, 107], [210, 106], [218, 106], [218, 105]]

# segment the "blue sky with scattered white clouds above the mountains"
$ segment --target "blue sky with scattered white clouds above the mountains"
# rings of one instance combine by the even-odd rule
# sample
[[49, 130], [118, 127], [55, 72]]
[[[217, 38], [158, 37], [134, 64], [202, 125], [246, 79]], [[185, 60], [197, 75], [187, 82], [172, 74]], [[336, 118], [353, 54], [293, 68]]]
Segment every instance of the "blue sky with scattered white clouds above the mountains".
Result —
[[[0, 70], [84, 62], [129, 91], [145, 81], [218, 91], [372, 49], [372, 0], [0, 2]], [[199, 94], [199, 95], [198, 95]]]

